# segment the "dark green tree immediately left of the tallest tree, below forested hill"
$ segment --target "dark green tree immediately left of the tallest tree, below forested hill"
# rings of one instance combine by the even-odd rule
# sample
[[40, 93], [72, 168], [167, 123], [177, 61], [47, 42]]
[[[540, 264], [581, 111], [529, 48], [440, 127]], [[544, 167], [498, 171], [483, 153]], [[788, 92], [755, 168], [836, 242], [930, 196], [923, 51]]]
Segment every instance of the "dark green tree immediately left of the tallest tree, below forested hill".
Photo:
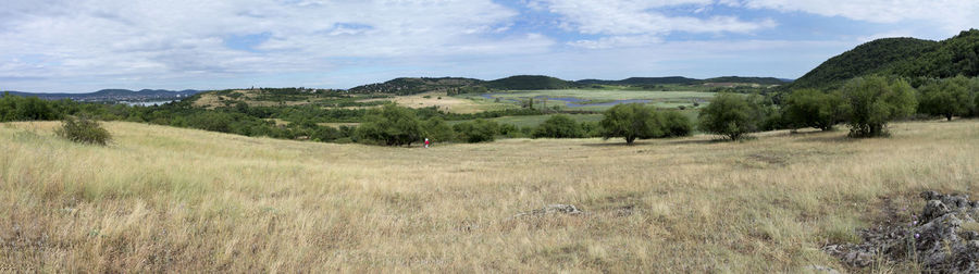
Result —
[[843, 122], [846, 111], [840, 92], [806, 88], [792, 91], [785, 100], [785, 119], [795, 127], [832, 130]]

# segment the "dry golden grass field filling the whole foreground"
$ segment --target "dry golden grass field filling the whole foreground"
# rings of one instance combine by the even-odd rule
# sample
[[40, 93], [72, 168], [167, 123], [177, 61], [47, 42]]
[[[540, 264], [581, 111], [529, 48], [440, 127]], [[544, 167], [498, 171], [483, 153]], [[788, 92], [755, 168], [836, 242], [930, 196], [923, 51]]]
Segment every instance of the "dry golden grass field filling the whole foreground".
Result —
[[[979, 121], [431, 149], [0, 124], [0, 265], [41, 272], [804, 272], [925, 189], [979, 194]], [[579, 215], [526, 215], [545, 204]], [[914, 265], [875, 265], [904, 272]]]

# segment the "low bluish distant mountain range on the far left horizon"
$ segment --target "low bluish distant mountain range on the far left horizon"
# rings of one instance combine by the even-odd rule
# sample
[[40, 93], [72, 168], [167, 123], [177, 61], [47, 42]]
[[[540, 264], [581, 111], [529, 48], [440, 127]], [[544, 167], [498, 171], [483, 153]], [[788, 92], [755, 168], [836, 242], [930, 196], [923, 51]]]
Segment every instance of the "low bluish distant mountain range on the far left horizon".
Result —
[[22, 97], [37, 97], [46, 100], [72, 99], [75, 101], [152, 101], [152, 100], [173, 100], [186, 98], [201, 92], [200, 90], [164, 90], [164, 89], [142, 89], [133, 91], [128, 89], [102, 89], [90, 94], [35, 94], [22, 91], [4, 91], [10, 95]]

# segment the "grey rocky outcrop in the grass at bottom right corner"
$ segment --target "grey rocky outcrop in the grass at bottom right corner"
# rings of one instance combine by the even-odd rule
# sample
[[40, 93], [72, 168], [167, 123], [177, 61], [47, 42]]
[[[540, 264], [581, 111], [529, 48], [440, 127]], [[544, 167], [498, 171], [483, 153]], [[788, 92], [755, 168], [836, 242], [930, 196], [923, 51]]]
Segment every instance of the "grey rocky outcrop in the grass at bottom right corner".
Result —
[[935, 191], [920, 197], [927, 203], [917, 220], [864, 229], [864, 242], [830, 245], [822, 250], [853, 267], [887, 259], [916, 261], [926, 272], [979, 273], [979, 202], [967, 195]]

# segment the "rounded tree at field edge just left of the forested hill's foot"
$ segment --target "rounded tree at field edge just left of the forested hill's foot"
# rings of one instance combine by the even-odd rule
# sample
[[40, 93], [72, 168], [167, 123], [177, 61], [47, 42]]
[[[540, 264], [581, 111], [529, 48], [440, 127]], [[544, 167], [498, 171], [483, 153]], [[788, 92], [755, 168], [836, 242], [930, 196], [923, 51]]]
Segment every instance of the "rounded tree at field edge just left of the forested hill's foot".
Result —
[[722, 92], [714, 97], [698, 117], [701, 130], [739, 140], [748, 133], [757, 132], [765, 115], [757, 100]]

